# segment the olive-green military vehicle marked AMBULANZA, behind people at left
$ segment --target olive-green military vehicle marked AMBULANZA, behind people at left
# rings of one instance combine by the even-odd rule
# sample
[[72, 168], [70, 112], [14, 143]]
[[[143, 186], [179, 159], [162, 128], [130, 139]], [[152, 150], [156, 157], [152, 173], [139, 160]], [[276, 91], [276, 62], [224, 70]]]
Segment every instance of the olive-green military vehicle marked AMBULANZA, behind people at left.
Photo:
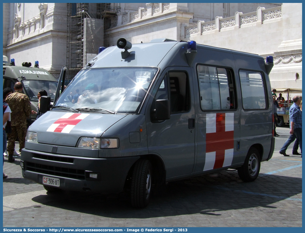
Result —
[[[31, 65], [30, 62], [23, 62], [22, 66], [15, 66], [15, 59], [11, 59], [10, 65], [3, 65], [3, 89], [9, 87], [14, 90], [14, 84], [21, 82], [23, 93], [30, 98], [32, 110], [37, 111], [38, 91], [46, 90], [53, 101], [58, 82], [47, 70], [39, 68], [38, 61], [35, 61], [34, 67]], [[28, 125], [34, 120], [36, 114], [31, 114], [27, 119]]]

